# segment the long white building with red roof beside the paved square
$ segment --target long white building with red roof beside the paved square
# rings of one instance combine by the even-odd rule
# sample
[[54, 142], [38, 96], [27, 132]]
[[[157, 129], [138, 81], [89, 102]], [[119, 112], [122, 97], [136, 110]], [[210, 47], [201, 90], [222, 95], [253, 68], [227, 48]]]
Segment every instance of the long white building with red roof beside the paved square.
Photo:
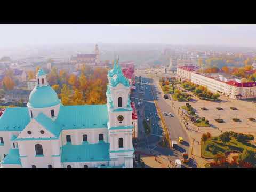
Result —
[[177, 77], [207, 87], [213, 93], [222, 92], [233, 99], [256, 98], [256, 82], [242, 83], [238, 78], [219, 74], [203, 74], [188, 66], [177, 68]]

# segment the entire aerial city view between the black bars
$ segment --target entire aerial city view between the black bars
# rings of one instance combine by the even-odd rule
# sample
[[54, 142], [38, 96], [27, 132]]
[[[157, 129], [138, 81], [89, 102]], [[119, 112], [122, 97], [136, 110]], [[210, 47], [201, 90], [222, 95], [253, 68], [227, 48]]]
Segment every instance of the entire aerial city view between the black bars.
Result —
[[1, 168], [256, 167], [256, 25], [0, 31]]

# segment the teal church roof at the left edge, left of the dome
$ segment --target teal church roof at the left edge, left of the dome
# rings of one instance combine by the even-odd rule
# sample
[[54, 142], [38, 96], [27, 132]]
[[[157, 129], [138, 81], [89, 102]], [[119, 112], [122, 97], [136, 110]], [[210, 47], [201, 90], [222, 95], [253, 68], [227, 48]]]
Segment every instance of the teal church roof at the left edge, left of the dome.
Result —
[[29, 122], [27, 107], [6, 108], [0, 117], [0, 131], [22, 131]]

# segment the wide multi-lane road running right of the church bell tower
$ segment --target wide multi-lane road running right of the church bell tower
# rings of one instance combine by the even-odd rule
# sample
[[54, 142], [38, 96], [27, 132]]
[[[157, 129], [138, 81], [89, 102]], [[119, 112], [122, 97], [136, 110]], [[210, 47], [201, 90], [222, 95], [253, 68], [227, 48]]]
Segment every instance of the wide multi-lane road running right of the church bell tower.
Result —
[[[187, 152], [189, 153], [189, 138], [188, 135], [186, 133], [186, 131], [184, 130], [184, 128], [182, 127], [182, 125], [180, 124], [179, 121], [179, 117], [177, 117], [173, 111], [173, 109], [171, 108], [170, 104], [166, 102], [166, 100], [163, 98], [162, 94], [158, 94], [158, 92], [161, 92], [161, 90], [159, 90], [157, 83], [159, 83], [159, 79], [157, 77], [153, 77], [153, 78], [149, 78], [147, 77], [147, 74], [145, 73], [138, 73], [137, 72], [137, 77], [141, 76], [141, 85], [143, 85], [143, 94], [140, 96], [141, 100], [138, 102], [143, 101], [143, 104], [141, 107], [137, 107], [137, 109], [142, 109], [143, 112], [140, 113], [144, 113], [143, 116], [139, 116], [139, 118], [149, 118], [150, 121], [148, 123], [151, 124], [151, 134], [147, 137], [147, 139], [145, 139], [145, 144], [148, 146], [149, 149], [154, 149], [156, 151], [161, 152], [162, 154], [168, 155], [171, 159], [171, 161], [175, 161], [175, 159], [181, 159], [182, 156], [182, 152]], [[138, 78], [137, 78], [138, 79]], [[139, 83], [136, 84], [137, 85], [137, 94], [140, 94], [140, 87], [139, 87]], [[152, 92], [153, 90], [153, 92]], [[154, 95], [153, 95], [154, 94]], [[138, 98], [138, 95], [137, 95]], [[167, 129], [169, 131], [169, 137], [171, 140], [176, 140], [178, 141], [179, 137], [183, 137], [184, 142], [183, 143], [178, 143], [179, 148], [178, 150], [172, 150], [172, 149], [168, 149], [168, 148], [162, 148], [156, 145], [156, 142], [159, 141], [161, 139], [161, 136], [163, 135], [163, 128], [162, 125], [159, 123], [159, 119], [157, 118], [158, 115], [157, 114], [157, 109], [154, 103], [154, 99], [155, 102], [157, 103], [158, 109], [160, 111], [158, 111], [159, 113], [162, 114], [162, 117], [164, 118], [165, 124], [167, 126]], [[138, 103], [137, 102], [137, 103]], [[141, 111], [142, 111], [141, 110]], [[172, 117], [170, 116], [165, 116], [163, 115], [163, 113], [171, 113]], [[143, 125], [140, 126], [141, 129], [143, 129]], [[142, 133], [144, 134], [144, 133]], [[140, 131], [138, 133], [139, 138], [143, 138], [140, 137]], [[145, 137], [146, 138], [146, 137]], [[142, 139], [143, 140], [143, 139]]]

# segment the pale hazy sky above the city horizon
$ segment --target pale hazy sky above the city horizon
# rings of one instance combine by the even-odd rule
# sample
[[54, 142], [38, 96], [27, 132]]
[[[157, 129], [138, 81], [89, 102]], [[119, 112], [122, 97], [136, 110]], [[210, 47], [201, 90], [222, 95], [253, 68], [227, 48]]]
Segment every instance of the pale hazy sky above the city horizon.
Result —
[[0, 47], [168, 43], [256, 47], [256, 25], [0, 25]]

